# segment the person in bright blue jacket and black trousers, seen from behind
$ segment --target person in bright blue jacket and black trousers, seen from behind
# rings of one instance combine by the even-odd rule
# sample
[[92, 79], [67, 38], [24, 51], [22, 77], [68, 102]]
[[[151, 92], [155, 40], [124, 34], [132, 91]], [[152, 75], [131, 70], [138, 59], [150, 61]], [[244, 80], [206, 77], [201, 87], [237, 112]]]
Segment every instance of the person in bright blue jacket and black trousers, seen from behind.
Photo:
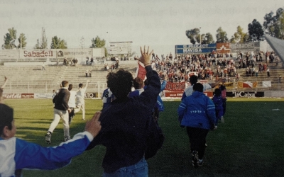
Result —
[[202, 166], [206, 137], [209, 130], [214, 130], [216, 122], [215, 105], [203, 93], [203, 85], [193, 85], [193, 93], [182, 100], [178, 107], [180, 125], [186, 127], [190, 138], [192, 165]]

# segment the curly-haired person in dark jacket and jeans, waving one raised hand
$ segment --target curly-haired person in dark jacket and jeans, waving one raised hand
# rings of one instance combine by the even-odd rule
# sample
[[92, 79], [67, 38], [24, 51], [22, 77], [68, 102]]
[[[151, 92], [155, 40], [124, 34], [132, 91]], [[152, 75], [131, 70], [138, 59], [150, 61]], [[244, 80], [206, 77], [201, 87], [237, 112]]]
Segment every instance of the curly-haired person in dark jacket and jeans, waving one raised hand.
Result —
[[160, 79], [150, 64], [152, 52], [146, 52], [145, 47], [141, 50], [139, 60], [145, 66], [149, 85], [140, 96], [128, 97], [133, 81], [130, 72], [119, 69], [107, 75], [107, 85], [116, 99], [102, 110], [102, 131], [88, 147], [107, 147], [103, 176], [148, 176], [146, 139], [151, 131], [158, 130], [148, 125], [155, 124], [151, 112], [160, 92]]

